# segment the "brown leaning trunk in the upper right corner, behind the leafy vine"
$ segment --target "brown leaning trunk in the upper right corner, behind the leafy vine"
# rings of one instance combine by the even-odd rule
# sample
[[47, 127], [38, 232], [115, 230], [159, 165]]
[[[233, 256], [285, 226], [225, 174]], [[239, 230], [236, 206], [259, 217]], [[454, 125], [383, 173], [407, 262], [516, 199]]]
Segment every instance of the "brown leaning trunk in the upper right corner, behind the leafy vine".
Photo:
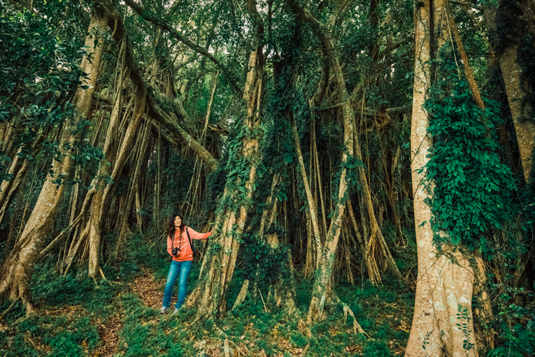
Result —
[[[520, 31], [523, 30], [522, 22], [520, 22], [520, 26], [512, 26], [513, 22], [519, 21], [517, 19], [519, 14], [514, 14], [513, 12], [513, 6], [509, 6], [508, 8], [502, 8], [502, 6], [496, 7], [491, 2], [486, 2], [483, 5], [486, 23], [491, 29], [493, 47], [504, 47], [500, 51], [496, 51], [495, 59], [500, 65], [500, 70], [504, 78], [503, 83], [515, 127], [524, 178], [528, 182], [533, 169], [532, 153], [535, 148], [535, 122], [531, 102], [532, 88], [529, 88], [529, 83], [527, 83], [519, 63], [518, 54], [522, 34], [514, 33], [515, 28], [521, 28]], [[500, 33], [497, 28], [498, 17], [502, 17], [502, 21], [505, 24], [511, 25], [509, 34], [503, 35], [504, 38], [499, 38]], [[502, 46], [498, 46], [500, 42]]]

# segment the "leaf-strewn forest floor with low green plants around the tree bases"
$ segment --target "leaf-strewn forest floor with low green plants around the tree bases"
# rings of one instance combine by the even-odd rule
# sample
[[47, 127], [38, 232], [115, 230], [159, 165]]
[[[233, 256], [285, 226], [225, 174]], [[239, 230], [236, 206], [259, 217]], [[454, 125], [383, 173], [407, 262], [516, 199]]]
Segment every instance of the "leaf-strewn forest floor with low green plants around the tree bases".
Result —
[[[311, 281], [296, 276], [297, 313], [288, 314], [265, 301], [248, 297], [220, 319], [195, 321], [195, 309], [161, 315], [169, 268], [166, 252], [131, 254], [128, 262], [106, 266], [108, 281], [95, 282], [83, 269], [61, 276], [53, 266], [36, 267], [32, 281], [38, 313], [25, 317], [22, 304], [0, 322], [0, 356], [211, 356], [224, 357], [227, 334], [230, 356], [402, 356], [409, 338], [414, 292], [393, 281], [375, 287], [366, 281], [342, 281], [336, 293], [353, 310], [370, 336], [356, 335], [352, 317], [341, 306], [328, 306], [324, 319], [304, 334]], [[164, 254], [165, 253], [165, 254]], [[188, 279], [195, 287], [200, 264]], [[87, 274], [87, 273], [85, 273]], [[227, 306], [241, 287], [240, 272]], [[171, 306], [176, 303], [174, 292]], [[267, 296], [267, 294], [265, 295]], [[5, 311], [9, 304], [0, 306]], [[192, 323], [193, 322], [193, 323]]]

